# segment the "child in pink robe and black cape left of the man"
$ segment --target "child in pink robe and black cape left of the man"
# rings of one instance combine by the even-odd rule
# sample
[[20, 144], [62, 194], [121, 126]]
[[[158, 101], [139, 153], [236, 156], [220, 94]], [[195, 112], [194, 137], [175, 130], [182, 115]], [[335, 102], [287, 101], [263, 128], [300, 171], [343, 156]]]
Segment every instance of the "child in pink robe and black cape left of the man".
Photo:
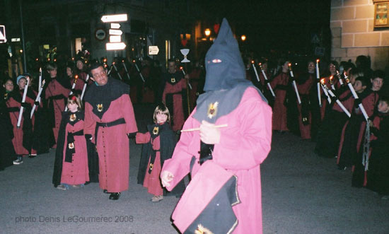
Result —
[[89, 181], [88, 151], [83, 135], [84, 112], [78, 94], [69, 96], [67, 107], [59, 127], [52, 177], [54, 187], [61, 190], [69, 189], [69, 185], [79, 188]]

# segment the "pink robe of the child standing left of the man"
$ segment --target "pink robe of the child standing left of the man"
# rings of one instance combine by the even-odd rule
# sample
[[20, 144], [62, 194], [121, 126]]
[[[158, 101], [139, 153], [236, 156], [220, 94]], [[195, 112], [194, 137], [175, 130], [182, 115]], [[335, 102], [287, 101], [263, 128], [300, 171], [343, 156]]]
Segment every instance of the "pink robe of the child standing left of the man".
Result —
[[[77, 115], [77, 113], [76, 113]], [[67, 133], [76, 132], [83, 129], [83, 121], [79, 120], [74, 126], [66, 124], [65, 129], [65, 144], [64, 144], [64, 158], [62, 161], [62, 175], [61, 183], [67, 185], [81, 185], [89, 181], [88, 170], [88, 151], [86, 149], [85, 136], [74, 136], [74, 149], [76, 153], [73, 154], [71, 163], [65, 162], [66, 148], [67, 148]]]

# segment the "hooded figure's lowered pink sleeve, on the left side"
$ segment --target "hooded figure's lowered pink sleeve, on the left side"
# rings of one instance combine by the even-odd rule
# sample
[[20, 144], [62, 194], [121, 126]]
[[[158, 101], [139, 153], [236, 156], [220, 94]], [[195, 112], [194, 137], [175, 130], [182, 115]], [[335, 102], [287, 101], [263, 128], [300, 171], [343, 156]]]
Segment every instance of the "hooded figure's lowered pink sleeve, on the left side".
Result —
[[[192, 115], [187, 119], [182, 129], [190, 129], [193, 128], [194, 119]], [[192, 160], [192, 154], [190, 153], [190, 142], [193, 138], [192, 132], [182, 132], [180, 136], [180, 141], [175, 146], [172, 158], [165, 160], [163, 163], [163, 168], [161, 172], [167, 170], [172, 172], [174, 175], [173, 181], [170, 182], [170, 186], [166, 187], [169, 191], [171, 191], [175, 185], [178, 184], [182, 180], [185, 175], [190, 172], [190, 160]]]

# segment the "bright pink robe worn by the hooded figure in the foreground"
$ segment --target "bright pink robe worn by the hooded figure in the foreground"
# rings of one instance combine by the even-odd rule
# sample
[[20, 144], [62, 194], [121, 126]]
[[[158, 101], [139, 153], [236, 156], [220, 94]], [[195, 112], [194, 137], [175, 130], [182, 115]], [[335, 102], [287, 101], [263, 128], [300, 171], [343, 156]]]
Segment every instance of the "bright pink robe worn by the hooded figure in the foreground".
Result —
[[[192, 115], [183, 129], [200, 126]], [[238, 107], [217, 119], [215, 124], [228, 124], [228, 127], [220, 129], [220, 143], [214, 145], [213, 160], [238, 177], [240, 204], [233, 206], [238, 218], [238, 226], [233, 233], [262, 233], [260, 164], [271, 147], [272, 109], [260, 98], [257, 90], [248, 88]], [[173, 157], [165, 160], [162, 168], [162, 171], [167, 170], [174, 175], [168, 190], [190, 172], [192, 156], [197, 159], [192, 169], [192, 177], [196, 176], [200, 167], [199, 150], [199, 131], [182, 132]]]

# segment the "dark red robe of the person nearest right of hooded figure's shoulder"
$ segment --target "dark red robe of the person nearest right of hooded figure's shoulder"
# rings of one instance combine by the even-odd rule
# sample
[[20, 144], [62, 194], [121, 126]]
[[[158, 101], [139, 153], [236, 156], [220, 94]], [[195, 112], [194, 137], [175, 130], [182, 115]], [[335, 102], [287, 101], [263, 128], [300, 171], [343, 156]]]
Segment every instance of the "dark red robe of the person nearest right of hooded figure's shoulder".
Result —
[[[289, 74], [281, 73], [274, 77], [270, 85], [274, 90], [276, 98], [273, 106], [273, 130], [288, 131], [286, 106], [284, 105], [286, 97], [286, 86], [288, 86]], [[278, 86], [278, 87], [277, 87]]]

